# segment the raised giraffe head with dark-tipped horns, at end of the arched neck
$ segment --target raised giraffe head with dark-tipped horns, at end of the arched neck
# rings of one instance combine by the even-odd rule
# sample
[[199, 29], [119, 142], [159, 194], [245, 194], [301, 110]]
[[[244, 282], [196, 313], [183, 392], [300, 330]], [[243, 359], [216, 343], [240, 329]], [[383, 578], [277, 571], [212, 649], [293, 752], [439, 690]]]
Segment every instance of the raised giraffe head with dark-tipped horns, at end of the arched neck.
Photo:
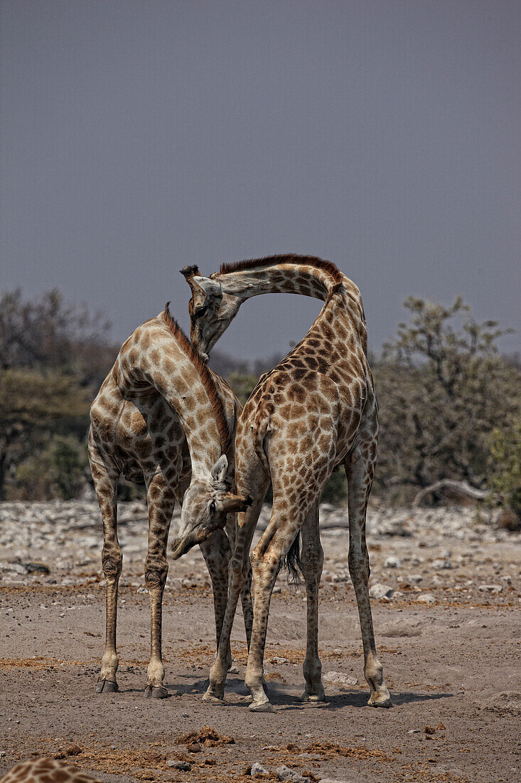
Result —
[[226, 294], [219, 280], [203, 277], [196, 266], [183, 267], [181, 275], [192, 290], [189, 301], [190, 339], [207, 362], [211, 349], [239, 312], [243, 299]]

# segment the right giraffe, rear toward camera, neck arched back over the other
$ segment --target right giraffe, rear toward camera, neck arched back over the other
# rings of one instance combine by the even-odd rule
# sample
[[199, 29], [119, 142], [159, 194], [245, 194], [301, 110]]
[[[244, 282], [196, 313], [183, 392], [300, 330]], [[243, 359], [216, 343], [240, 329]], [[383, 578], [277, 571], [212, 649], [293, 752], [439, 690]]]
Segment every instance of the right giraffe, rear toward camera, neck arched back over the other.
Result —
[[358, 287], [331, 262], [298, 255], [223, 265], [210, 278], [196, 267], [181, 270], [192, 289], [189, 302], [193, 345], [207, 357], [247, 298], [269, 292], [305, 294], [325, 300], [303, 340], [271, 372], [260, 377], [239, 416], [235, 438], [236, 491], [253, 497], [239, 514], [230, 561], [228, 605], [219, 653], [204, 698], [221, 702], [226, 679], [225, 644], [261, 503], [271, 480], [273, 506], [268, 528], [251, 554], [255, 605], [246, 667], [251, 710], [271, 705], [262, 684], [271, 592], [285, 557], [298, 556], [307, 590], [307, 648], [304, 701], [323, 701], [318, 656], [318, 586], [323, 553], [318, 501], [329, 475], [343, 464], [349, 486], [348, 565], [358, 604], [369, 705], [392, 702], [376, 655], [368, 594], [369, 561], [365, 517], [376, 461], [378, 406], [367, 359], [365, 314]]

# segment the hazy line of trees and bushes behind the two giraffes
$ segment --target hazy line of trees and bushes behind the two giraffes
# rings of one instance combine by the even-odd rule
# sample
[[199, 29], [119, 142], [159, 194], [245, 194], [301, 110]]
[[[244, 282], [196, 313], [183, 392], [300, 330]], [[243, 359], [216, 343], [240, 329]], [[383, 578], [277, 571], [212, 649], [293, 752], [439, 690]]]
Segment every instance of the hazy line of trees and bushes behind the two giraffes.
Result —
[[[461, 298], [450, 307], [404, 302], [408, 323], [372, 358], [379, 399], [375, 493], [430, 500], [456, 485], [521, 514], [521, 369], [501, 356], [505, 330], [477, 323]], [[0, 298], [0, 499], [74, 498], [88, 477], [88, 408], [116, 358], [110, 323], [66, 305], [58, 290]], [[282, 358], [254, 363], [218, 351], [210, 366], [246, 402]], [[124, 493], [131, 493], [127, 487]], [[343, 503], [343, 471], [322, 500]]]

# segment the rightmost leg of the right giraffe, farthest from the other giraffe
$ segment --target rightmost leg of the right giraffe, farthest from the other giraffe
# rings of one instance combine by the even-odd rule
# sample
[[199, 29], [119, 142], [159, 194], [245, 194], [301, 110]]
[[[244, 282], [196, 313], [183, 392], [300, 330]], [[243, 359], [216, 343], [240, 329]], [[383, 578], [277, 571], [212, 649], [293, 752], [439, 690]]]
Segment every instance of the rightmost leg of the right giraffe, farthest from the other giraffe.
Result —
[[358, 446], [345, 462], [349, 508], [349, 572], [357, 597], [362, 643], [364, 645], [364, 676], [371, 689], [368, 704], [372, 707], [392, 707], [393, 703], [383, 681], [382, 664], [376, 655], [375, 634], [369, 602], [369, 556], [365, 543], [365, 514], [374, 475], [375, 460], [370, 449]]

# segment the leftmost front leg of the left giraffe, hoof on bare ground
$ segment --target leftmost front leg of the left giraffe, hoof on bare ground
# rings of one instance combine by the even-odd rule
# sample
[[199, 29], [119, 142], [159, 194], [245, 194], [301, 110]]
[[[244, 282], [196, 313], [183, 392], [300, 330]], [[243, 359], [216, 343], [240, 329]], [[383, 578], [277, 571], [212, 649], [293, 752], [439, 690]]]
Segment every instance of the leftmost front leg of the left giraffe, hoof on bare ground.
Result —
[[117, 479], [110, 474], [101, 457], [89, 449], [92, 479], [103, 521], [102, 568], [106, 578], [106, 633], [102, 668], [96, 684], [97, 693], [117, 691], [116, 672], [119, 659], [116, 651], [117, 586], [120, 580], [123, 555], [117, 540]]

